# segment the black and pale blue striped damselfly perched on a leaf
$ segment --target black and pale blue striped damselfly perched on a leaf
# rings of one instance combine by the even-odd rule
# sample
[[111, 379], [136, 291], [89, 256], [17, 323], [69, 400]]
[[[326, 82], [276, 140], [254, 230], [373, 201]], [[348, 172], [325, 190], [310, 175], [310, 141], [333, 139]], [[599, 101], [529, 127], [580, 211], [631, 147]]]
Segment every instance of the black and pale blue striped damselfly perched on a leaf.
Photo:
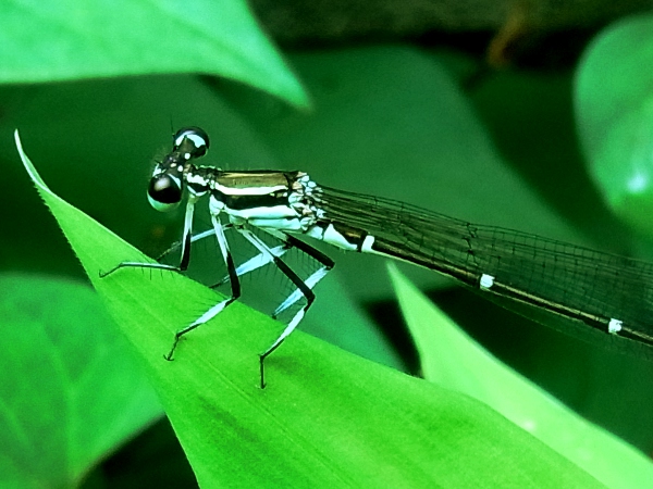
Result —
[[[160, 263], [119, 264], [185, 271], [193, 240], [214, 235], [227, 269], [231, 297], [218, 302], [195, 322], [180, 329], [167, 355], [172, 359], [178, 340], [217, 316], [241, 296], [239, 276], [273, 263], [296, 290], [273, 316], [304, 299], [280, 337], [260, 354], [263, 363], [299, 324], [315, 300], [313, 287], [333, 267], [333, 261], [296, 236], [337, 248], [374, 253], [432, 268], [465, 286], [480, 290], [508, 309], [587, 325], [609, 335], [653, 344], [653, 263], [618, 256], [501, 227], [476, 225], [406, 203], [324, 187], [299, 171], [222, 171], [199, 166], [195, 160], [209, 148], [207, 134], [197, 127], [178, 130], [173, 150], [155, 167], [148, 188], [152, 206], [170, 210], [187, 195], [182, 255], [178, 266]], [[212, 229], [193, 237], [197, 201], [209, 197]], [[224, 222], [222, 217], [224, 216]], [[280, 241], [269, 247], [252, 233], [258, 228]], [[258, 255], [236, 267], [225, 230], [239, 233]], [[320, 264], [303, 280], [283, 260], [297, 248]]]

